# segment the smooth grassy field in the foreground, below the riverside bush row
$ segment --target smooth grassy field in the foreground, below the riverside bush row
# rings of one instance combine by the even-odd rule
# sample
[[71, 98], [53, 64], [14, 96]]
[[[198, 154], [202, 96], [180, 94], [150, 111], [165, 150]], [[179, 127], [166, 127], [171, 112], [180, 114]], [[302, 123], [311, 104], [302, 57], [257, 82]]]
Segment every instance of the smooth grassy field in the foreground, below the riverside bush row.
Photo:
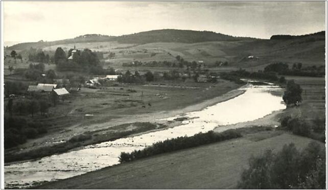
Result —
[[242, 138], [119, 164], [38, 188], [236, 188], [251, 155], [278, 151], [289, 143], [300, 149], [310, 141], [282, 131], [244, 133]]

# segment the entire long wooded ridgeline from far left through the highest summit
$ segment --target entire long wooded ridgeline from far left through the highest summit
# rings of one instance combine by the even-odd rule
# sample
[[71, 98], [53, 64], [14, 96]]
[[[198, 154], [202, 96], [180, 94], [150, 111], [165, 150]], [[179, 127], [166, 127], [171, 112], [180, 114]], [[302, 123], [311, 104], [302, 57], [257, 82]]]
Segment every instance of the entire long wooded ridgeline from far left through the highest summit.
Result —
[[118, 41], [119, 43], [154, 43], [154, 42], [181, 42], [181, 43], [197, 43], [205, 41], [237, 41], [237, 40], [251, 40], [255, 38], [233, 37], [225, 34], [209, 32], [209, 31], [192, 31], [192, 30], [152, 30], [147, 32], [139, 32], [123, 36], [106, 36], [99, 34], [87, 34], [78, 36], [72, 39], [64, 39], [58, 41], [38, 41], [19, 43], [9, 47], [9, 50], [26, 50], [33, 47], [41, 49], [46, 46], [82, 43], [82, 42], [105, 42]]

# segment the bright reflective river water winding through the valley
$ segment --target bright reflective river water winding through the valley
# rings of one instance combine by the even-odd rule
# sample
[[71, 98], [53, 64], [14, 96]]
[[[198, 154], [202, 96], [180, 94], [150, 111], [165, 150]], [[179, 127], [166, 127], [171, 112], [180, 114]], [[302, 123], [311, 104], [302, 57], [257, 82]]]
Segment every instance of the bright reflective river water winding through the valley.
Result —
[[[168, 138], [207, 132], [217, 126], [253, 121], [273, 111], [286, 108], [282, 97], [273, 95], [274, 92], [282, 90], [278, 86], [248, 84], [239, 90], [245, 92], [236, 98], [206, 107], [201, 111], [186, 113], [184, 116], [190, 119], [174, 128], [90, 145], [80, 150], [34, 161], [6, 165], [5, 187], [28, 187], [34, 182], [65, 179], [99, 170], [119, 164], [121, 152], [144, 149]], [[165, 120], [173, 120], [176, 117], [165, 118]]]

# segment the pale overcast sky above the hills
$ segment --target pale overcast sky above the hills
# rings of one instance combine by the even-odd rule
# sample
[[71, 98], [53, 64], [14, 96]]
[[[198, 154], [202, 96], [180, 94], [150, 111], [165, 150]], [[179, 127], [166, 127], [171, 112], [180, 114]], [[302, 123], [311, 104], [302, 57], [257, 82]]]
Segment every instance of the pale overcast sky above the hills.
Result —
[[270, 38], [325, 30], [324, 2], [2, 2], [5, 41], [156, 29]]

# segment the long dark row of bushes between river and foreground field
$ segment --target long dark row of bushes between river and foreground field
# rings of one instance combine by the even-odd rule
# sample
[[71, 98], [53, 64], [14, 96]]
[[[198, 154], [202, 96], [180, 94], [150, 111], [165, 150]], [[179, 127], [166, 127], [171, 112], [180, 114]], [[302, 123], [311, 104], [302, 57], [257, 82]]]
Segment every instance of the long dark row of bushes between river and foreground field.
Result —
[[150, 147], [146, 147], [143, 150], [135, 150], [131, 153], [122, 152], [120, 156], [120, 162], [123, 163], [133, 161], [139, 158], [153, 156], [156, 154], [197, 147], [200, 145], [215, 143], [218, 141], [223, 141], [232, 138], [238, 138], [241, 136], [241, 133], [237, 132], [236, 130], [227, 130], [222, 133], [215, 133], [213, 131], [209, 131], [207, 133], [198, 133], [190, 137], [184, 136], [167, 139], [164, 141], [159, 141], [158, 143], [155, 143]]

